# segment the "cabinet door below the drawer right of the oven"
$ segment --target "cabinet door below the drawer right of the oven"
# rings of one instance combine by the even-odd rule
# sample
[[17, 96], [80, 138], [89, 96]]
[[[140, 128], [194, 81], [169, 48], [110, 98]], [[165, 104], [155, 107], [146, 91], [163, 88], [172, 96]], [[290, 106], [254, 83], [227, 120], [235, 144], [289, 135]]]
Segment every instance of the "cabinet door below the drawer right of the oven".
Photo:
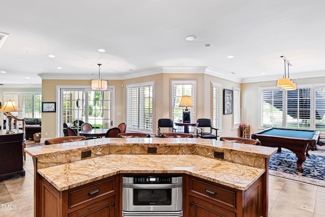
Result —
[[197, 197], [189, 196], [189, 217], [235, 217], [236, 213], [208, 203]]

